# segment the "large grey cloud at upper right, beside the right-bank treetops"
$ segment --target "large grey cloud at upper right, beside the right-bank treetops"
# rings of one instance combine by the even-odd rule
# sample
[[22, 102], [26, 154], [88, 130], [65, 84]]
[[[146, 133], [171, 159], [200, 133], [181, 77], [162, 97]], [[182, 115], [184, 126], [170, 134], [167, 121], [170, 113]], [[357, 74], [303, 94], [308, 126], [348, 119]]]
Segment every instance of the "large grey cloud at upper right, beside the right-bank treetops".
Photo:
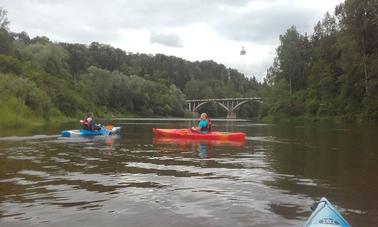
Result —
[[225, 10], [225, 16], [213, 21], [213, 26], [220, 36], [228, 39], [273, 44], [292, 25], [301, 33], [311, 33], [315, 22], [326, 12], [300, 0], [288, 3], [284, 0], [250, 2], [247, 6]]

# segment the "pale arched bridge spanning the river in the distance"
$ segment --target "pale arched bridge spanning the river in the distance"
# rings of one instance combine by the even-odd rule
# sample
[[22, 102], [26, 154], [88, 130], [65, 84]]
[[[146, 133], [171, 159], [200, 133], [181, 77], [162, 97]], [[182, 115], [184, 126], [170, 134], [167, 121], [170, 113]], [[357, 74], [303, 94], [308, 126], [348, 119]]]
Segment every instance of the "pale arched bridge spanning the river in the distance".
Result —
[[214, 102], [219, 104], [227, 111], [227, 118], [236, 118], [236, 109], [239, 108], [241, 105], [247, 102], [259, 102], [263, 103], [262, 99], [259, 97], [251, 97], [251, 98], [221, 98], [221, 99], [194, 99], [194, 100], [185, 100], [188, 103], [188, 109], [192, 113], [197, 112], [197, 110], [209, 103]]

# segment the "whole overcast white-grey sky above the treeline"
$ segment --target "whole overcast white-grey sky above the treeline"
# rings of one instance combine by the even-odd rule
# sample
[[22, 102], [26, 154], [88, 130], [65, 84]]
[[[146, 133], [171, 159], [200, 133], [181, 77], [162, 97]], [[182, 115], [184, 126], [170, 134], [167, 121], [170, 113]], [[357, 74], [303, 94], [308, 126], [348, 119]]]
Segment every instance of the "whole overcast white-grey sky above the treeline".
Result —
[[[262, 80], [279, 35], [311, 34], [343, 0], [0, 0], [10, 29], [57, 42], [213, 60]], [[245, 46], [246, 55], [240, 55]]]

